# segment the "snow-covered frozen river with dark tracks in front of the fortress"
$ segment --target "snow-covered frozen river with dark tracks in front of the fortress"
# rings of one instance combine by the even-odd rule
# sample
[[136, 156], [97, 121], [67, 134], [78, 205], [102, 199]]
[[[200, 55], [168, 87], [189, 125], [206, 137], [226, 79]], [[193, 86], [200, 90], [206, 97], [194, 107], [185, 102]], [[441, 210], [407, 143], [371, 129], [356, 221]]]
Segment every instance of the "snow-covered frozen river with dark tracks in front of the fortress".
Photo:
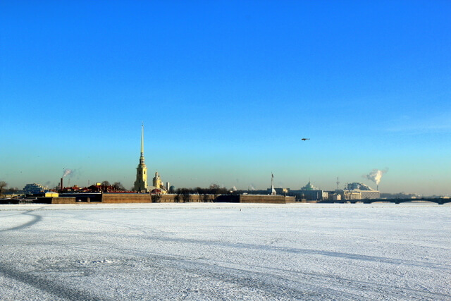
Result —
[[0, 205], [0, 300], [451, 300], [451, 206]]

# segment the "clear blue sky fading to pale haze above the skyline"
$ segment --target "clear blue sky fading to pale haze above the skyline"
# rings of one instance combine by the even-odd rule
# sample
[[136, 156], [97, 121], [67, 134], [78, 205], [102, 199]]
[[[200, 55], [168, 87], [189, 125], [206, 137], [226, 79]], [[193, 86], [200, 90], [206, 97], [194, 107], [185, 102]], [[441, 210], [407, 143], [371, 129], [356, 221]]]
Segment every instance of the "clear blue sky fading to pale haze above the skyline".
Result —
[[[450, 1], [3, 1], [0, 180], [451, 194]], [[311, 140], [302, 142], [302, 137]]]

